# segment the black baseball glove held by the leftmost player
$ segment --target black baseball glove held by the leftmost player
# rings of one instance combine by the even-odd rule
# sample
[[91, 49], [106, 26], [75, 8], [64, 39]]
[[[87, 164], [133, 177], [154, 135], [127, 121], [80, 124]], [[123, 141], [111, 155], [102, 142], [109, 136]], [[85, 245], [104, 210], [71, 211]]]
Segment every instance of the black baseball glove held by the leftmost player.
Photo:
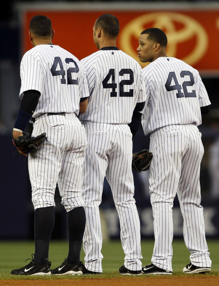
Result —
[[42, 133], [36, 137], [30, 137], [28, 132], [23, 132], [22, 134], [23, 136], [19, 136], [17, 139], [12, 139], [12, 142], [16, 148], [25, 154], [39, 150], [38, 146], [46, 138], [46, 133]]

